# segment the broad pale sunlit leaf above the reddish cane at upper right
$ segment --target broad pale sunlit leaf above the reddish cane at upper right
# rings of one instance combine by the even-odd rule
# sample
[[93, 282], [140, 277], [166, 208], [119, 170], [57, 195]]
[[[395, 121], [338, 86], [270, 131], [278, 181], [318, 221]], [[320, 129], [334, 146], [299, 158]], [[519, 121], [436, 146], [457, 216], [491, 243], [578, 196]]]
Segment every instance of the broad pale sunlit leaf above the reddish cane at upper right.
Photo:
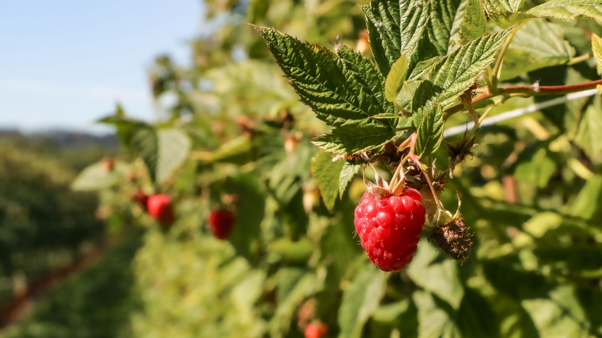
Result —
[[574, 54], [560, 26], [544, 19], [530, 20], [512, 38], [500, 78], [512, 79], [532, 70], [565, 64]]

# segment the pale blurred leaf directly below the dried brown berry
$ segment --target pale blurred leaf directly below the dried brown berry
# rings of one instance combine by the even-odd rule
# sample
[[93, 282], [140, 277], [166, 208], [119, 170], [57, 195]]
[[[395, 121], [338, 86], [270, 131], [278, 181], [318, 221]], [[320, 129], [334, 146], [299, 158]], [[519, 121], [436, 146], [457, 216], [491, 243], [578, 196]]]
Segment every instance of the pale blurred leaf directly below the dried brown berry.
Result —
[[453, 309], [458, 309], [464, 296], [458, 264], [453, 260], [441, 260], [440, 253], [426, 241], [418, 243], [416, 252], [407, 269], [409, 277], [424, 290], [449, 303]]

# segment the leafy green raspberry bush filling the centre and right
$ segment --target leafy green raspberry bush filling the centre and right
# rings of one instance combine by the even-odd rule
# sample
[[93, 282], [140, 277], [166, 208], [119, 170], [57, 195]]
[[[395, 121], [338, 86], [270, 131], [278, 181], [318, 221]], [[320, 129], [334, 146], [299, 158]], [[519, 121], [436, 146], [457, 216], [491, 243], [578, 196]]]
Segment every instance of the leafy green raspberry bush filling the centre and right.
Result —
[[[193, 41], [193, 66], [151, 69], [166, 118], [118, 107], [101, 122], [122, 155], [73, 183], [100, 191], [116, 231], [146, 229], [131, 336], [300, 337], [311, 322], [343, 338], [602, 336], [601, 11], [208, 2], [228, 20]], [[129, 200], [140, 190], [172, 197], [169, 229]], [[424, 231], [377, 238], [417, 241], [384, 273], [389, 251], [362, 247], [364, 203], [395, 210], [399, 195], [420, 200]], [[236, 212], [225, 240], [219, 205]]]

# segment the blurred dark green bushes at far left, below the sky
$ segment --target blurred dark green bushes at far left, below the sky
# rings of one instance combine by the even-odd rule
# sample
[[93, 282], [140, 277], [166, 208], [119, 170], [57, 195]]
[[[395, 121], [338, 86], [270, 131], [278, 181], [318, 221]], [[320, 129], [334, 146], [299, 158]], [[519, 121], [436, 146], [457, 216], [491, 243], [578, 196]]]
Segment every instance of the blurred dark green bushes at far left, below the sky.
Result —
[[104, 237], [98, 198], [70, 183], [110, 147], [52, 144], [57, 138], [0, 138], [0, 304], [23, 286], [78, 257]]

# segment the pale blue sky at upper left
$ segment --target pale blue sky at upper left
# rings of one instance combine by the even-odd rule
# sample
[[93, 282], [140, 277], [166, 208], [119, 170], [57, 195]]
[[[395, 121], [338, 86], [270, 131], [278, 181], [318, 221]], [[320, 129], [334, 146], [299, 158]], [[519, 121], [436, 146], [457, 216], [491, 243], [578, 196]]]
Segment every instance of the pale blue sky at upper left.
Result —
[[153, 120], [146, 70], [158, 54], [189, 63], [200, 0], [2, 1], [0, 128], [104, 132], [122, 102]]

